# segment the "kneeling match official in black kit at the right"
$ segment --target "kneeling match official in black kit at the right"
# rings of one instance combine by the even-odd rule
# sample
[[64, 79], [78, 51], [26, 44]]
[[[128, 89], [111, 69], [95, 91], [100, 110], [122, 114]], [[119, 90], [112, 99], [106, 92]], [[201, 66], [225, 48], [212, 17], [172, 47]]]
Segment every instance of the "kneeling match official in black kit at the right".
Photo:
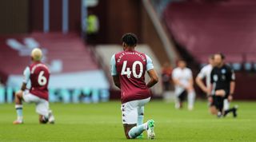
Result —
[[217, 108], [218, 117], [226, 116], [230, 112], [233, 112], [233, 116], [236, 117], [238, 106], [223, 110], [224, 100], [229, 102], [233, 100], [235, 88], [234, 70], [226, 65], [224, 60], [225, 56], [222, 53], [214, 54], [215, 67], [210, 73], [211, 105]]

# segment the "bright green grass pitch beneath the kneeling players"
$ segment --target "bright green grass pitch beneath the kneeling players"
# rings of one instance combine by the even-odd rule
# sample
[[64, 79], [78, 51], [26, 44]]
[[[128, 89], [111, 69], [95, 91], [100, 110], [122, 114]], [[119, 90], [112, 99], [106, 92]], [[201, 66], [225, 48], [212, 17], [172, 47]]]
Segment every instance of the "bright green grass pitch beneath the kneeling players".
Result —
[[[194, 111], [174, 109], [174, 104], [151, 101], [145, 120], [155, 121], [155, 141], [256, 141], [255, 102], [238, 104], [238, 118], [211, 116], [206, 102], [197, 101]], [[56, 124], [38, 124], [34, 105], [24, 105], [25, 124], [14, 125], [14, 104], [0, 105], [0, 141], [128, 141], [125, 139], [120, 103], [51, 104]], [[129, 140], [134, 141], [134, 140]], [[144, 138], [146, 141], [146, 132]]]

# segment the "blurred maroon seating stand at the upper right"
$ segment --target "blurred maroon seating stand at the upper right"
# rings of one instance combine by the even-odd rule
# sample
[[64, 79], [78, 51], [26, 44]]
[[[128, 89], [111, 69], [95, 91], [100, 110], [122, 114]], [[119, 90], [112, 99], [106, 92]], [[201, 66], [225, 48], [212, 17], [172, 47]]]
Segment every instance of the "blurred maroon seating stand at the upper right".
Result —
[[[256, 2], [171, 2], [163, 18], [174, 39], [199, 62], [210, 53], [225, 53], [241, 68], [245, 57], [256, 62]], [[253, 56], [253, 57], [250, 57]]]

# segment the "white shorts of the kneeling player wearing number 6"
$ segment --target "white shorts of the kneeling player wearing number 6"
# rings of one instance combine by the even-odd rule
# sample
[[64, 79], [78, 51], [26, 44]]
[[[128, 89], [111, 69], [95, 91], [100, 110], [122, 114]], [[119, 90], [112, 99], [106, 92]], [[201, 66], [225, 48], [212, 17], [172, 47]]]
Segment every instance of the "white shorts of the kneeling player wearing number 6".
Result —
[[49, 114], [49, 102], [31, 94], [28, 90], [23, 92], [23, 100], [26, 103], [35, 103], [36, 112], [42, 116], [48, 116]]

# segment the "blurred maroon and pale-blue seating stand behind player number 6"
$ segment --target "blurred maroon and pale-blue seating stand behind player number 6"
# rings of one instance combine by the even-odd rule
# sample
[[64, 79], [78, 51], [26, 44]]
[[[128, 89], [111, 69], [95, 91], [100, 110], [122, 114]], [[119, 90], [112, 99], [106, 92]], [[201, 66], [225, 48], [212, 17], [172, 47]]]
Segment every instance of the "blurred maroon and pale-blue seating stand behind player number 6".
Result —
[[[94, 57], [91, 56], [90, 50], [83, 43], [81, 37], [74, 33], [0, 36], [2, 41], [0, 44], [0, 64], [2, 65], [0, 73], [1, 77], [6, 77], [6, 87], [8, 88], [6, 94], [12, 92], [10, 89], [16, 90], [20, 87], [22, 71], [30, 63], [30, 51], [34, 47], [31, 43], [27, 45], [28, 39], [30, 42], [35, 42], [34, 45], [42, 47], [45, 55], [43, 60], [50, 67], [52, 74], [49, 84], [52, 93], [50, 101], [58, 101], [57, 98], [61, 97], [64, 99], [62, 101], [70, 102], [69, 98], [72, 93], [67, 89], [76, 89], [73, 92], [80, 93], [80, 95], [84, 89], [87, 90], [84, 94], [91, 95], [95, 91], [99, 95], [106, 94], [102, 90], [109, 89], [109, 82], [106, 80], [104, 72], [98, 68], [97, 62], [94, 61]], [[99, 84], [98, 81], [101, 83]], [[58, 94], [54, 95], [54, 93]], [[96, 98], [97, 100], [98, 98]], [[75, 100], [73, 99], [73, 101]]]

